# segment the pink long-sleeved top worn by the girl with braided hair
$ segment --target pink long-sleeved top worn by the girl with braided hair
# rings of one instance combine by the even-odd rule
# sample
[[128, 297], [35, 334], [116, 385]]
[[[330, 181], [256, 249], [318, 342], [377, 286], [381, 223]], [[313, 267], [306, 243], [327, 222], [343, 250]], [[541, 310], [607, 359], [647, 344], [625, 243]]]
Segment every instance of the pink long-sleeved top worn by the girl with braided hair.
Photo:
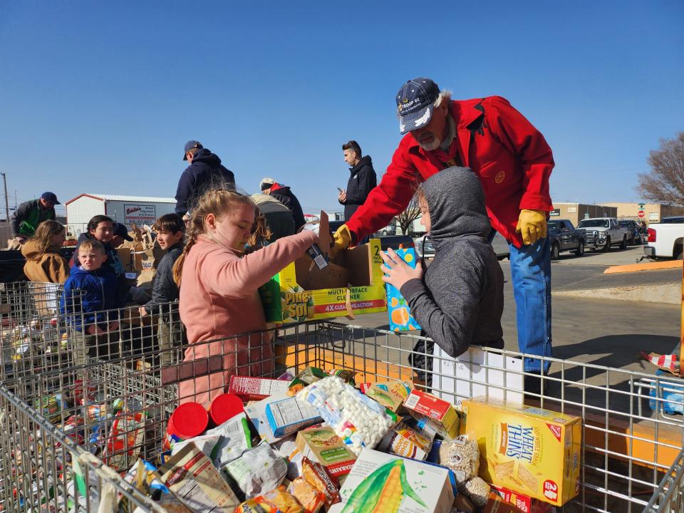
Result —
[[268, 334], [233, 336], [266, 328], [257, 289], [316, 240], [316, 234], [301, 232], [242, 257], [209, 237], [197, 239], [185, 258], [180, 286], [180, 318], [187, 339], [194, 344], [232, 338], [187, 348], [184, 361], [222, 355], [224, 370], [182, 381], [180, 403], [197, 401], [207, 406], [223, 393], [231, 375], [258, 376], [273, 370]]

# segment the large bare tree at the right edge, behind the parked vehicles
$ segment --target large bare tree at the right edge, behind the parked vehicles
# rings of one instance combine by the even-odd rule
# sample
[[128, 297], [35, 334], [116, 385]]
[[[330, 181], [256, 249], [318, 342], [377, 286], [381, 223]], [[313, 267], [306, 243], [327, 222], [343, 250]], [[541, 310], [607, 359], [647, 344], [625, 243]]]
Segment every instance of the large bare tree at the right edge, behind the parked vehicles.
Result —
[[651, 171], [638, 175], [636, 190], [655, 202], [684, 206], [684, 132], [674, 139], [660, 139], [658, 150], [648, 156]]

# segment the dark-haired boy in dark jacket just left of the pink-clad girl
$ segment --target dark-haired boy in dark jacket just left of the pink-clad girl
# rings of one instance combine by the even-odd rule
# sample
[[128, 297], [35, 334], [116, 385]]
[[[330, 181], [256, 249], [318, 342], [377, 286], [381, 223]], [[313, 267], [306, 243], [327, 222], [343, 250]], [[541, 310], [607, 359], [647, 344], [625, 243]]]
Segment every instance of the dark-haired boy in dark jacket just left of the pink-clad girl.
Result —
[[172, 348], [182, 343], [182, 324], [178, 318], [177, 304], [169, 305], [178, 299], [178, 286], [173, 281], [173, 265], [183, 251], [185, 222], [178, 214], [166, 214], [155, 222], [159, 247], [167, 252], [157, 266], [155, 283], [152, 286], [152, 299], [140, 306], [140, 316], [159, 316], [157, 341], [159, 341], [162, 366], [173, 361]]

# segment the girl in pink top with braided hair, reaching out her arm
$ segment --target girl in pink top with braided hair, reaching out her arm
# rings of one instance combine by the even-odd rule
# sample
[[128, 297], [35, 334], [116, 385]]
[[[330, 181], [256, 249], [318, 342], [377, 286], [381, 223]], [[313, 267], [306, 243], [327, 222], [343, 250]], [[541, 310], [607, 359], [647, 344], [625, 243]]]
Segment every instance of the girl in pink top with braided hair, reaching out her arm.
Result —
[[180, 286], [180, 318], [193, 344], [184, 361], [221, 355], [223, 369], [182, 381], [180, 403], [208, 405], [224, 392], [230, 376], [273, 371], [268, 334], [245, 334], [266, 329], [257, 289], [301, 257], [318, 236], [301, 232], [245, 255], [256, 209], [249, 196], [215, 190], [207, 192], [192, 213], [187, 244], [173, 269]]

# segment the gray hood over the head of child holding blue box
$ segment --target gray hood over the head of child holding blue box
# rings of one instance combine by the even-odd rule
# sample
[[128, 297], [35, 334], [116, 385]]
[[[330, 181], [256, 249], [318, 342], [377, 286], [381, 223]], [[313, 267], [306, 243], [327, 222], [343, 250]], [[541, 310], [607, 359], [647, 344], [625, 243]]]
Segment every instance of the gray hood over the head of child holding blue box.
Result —
[[480, 179], [468, 167], [448, 167], [420, 185], [430, 212], [430, 238], [435, 249], [462, 237], [487, 240], [492, 225], [484, 209]]

